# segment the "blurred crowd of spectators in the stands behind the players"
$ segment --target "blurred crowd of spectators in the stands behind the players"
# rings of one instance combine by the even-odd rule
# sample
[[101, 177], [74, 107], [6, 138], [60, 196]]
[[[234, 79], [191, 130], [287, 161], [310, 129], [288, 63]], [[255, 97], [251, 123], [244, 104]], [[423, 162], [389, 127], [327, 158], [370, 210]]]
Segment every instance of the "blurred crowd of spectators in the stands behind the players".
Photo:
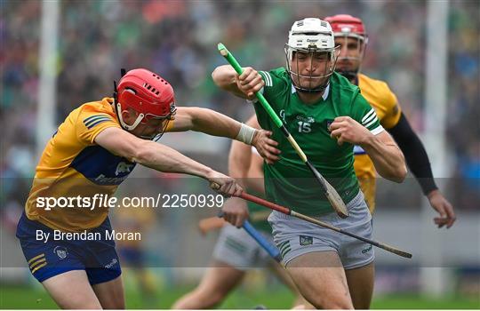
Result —
[[[446, 134], [456, 181], [447, 195], [456, 207], [472, 210], [480, 202], [479, 6], [476, 0], [455, 0], [449, 12]], [[1, 10], [0, 203], [17, 208], [25, 200], [37, 161], [42, 2], [6, 0]], [[61, 122], [82, 103], [110, 96], [120, 68], [144, 67], [170, 81], [179, 105], [213, 108], [244, 120], [242, 100], [212, 84], [212, 69], [224, 64], [216, 44], [226, 44], [244, 65], [280, 67], [294, 20], [337, 13], [364, 20], [370, 36], [364, 72], [388, 81], [421, 133], [428, 114], [427, 3], [419, 1], [61, 1], [59, 44], [52, 56], [58, 102], [52, 114]], [[212, 156], [210, 161], [226, 159]]]

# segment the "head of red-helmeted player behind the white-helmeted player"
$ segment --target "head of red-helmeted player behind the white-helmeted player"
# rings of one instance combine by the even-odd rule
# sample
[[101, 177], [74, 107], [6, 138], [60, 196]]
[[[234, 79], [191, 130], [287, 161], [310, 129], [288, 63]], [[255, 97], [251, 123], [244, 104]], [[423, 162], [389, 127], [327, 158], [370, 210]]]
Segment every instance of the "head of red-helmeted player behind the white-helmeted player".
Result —
[[[347, 77], [349, 80], [356, 78], [356, 75], [360, 71], [362, 60], [364, 60], [364, 54], [366, 46], [368, 44], [368, 36], [365, 32], [364, 23], [362, 20], [353, 17], [348, 14], [339, 14], [335, 16], [329, 16], [325, 18], [326, 21], [330, 23], [333, 30], [333, 36], [335, 38], [345, 38], [345, 45], [341, 47], [342, 49], [349, 49], [348, 45], [356, 46], [356, 56], [351, 55], [341, 55], [348, 54], [348, 51], [345, 53], [340, 53], [339, 62], [340, 67], [337, 68], [337, 72], [340, 75]], [[354, 40], [354, 43], [352, 43]], [[341, 68], [341, 62], [346, 61], [350, 63], [357, 63], [358, 66], [352, 65], [350, 68]]]

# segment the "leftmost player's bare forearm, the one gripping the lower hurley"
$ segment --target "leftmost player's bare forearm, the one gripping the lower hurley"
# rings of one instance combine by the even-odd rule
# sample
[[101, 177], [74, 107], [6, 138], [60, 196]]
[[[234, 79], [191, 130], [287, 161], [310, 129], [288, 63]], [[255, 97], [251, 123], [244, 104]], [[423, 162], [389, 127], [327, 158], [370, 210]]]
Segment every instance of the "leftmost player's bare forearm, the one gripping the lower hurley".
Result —
[[132, 160], [156, 171], [178, 172], [207, 179], [212, 169], [167, 146], [145, 141]]

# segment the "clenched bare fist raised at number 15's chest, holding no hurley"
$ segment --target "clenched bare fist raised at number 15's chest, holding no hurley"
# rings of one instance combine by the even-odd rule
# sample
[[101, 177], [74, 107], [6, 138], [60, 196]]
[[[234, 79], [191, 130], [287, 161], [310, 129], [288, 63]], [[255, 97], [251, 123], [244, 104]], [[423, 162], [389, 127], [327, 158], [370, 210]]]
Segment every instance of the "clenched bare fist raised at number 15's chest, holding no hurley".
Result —
[[364, 125], [359, 124], [349, 116], [338, 116], [330, 125], [330, 136], [337, 139], [339, 145], [344, 142], [361, 146], [372, 136]]

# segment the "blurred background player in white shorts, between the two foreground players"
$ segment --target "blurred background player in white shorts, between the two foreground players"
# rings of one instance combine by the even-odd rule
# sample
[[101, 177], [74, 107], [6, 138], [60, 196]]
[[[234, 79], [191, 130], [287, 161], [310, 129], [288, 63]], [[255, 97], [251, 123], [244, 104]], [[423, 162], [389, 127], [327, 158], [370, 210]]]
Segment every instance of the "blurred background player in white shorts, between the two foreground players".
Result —
[[[260, 128], [257, 117], [252, 116], [246, 123]], [[275, 144], [272, 144], [274, 146]], [[270, 157], [272, 160], [275, 156]], [[228, 155], [228, 174], [252, 195], [264, 196], [263, 158], [255, 148], [242, 142], [232, 143]], [[269, 242], [273, 241], [272, 228], [268, 225], [268, 210], [255, 203], [232, 196], [225, 202], [228, 205], [244, 205], [252, 218], [252, 226], [259, 230]], [[218, 219], [218, 218], [216, 218]], [[259, 243], [253, 240], [243, 228], [236, 228], [229, 223], [221, 224], [220, 235], [212, 252], [210, 267], [205, 271], [196, 289], [178, 299], [173, 309], [209, 309], [219, 306], [228, 294], [244, 280], [244, 276], [253, 268], [264, 267], [275, 272], [278, 280], [290, 288], [296, 296], [293, 306], [305, 306], [304, 299], [292, 283], [284, 268], [272, 259]], [[204, 230], [218, 228], [205, 226]], [[287, 306], [285, 306], [287, 307]]]

